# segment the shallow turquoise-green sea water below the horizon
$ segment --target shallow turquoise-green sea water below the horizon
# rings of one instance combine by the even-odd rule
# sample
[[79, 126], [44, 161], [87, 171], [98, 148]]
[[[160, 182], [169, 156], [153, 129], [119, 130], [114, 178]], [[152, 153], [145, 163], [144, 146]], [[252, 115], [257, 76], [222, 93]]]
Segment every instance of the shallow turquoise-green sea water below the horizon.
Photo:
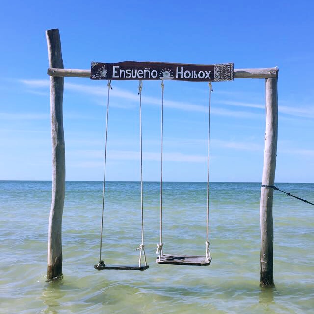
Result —
[[[157, 265], [159, 183], [144, 183], [150, 269], [96, 271], [101, 182], [67, 182], [63, 274], [46, 283], [51, 182], [0, 181], [0, 313], [313, 313], [314, 206], [274, 192], [274, 280], [259, 288], [260, 183], [211, 183], [209, 267]], [[277, 183], [314, 201], [314, 183]], [[136, 264], [140, 184], [107, 183], [102, 258]], [[203, 255], [206, 183], [164, 183], [164, 253]]]

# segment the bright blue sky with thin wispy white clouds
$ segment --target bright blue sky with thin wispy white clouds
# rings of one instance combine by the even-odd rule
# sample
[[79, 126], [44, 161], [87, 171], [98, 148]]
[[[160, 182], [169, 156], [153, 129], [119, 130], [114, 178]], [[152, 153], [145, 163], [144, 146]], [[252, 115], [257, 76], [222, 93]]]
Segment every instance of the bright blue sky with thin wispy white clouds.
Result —
[[[311, 1], [6, 1], [0, 12], [0, 180], [51, 180], [47, 29], [65, 68], [91, 61], [279, 67], [276, 182], [313, 182]], [[193, 3], [193, 4], [191, 4]], [[213, 83], [210, 180], [262, 179], [263, 79]], [[139, 180], [138, 82], [113, 81], [108, 180]], [[106, 82], [65, 78], [67, 180], [102, 180]], [[165, 82], [164, 180], [206, 181], [206, 83]], [[143, 178], [160, 178], [160, 81], [143, 84]]]

